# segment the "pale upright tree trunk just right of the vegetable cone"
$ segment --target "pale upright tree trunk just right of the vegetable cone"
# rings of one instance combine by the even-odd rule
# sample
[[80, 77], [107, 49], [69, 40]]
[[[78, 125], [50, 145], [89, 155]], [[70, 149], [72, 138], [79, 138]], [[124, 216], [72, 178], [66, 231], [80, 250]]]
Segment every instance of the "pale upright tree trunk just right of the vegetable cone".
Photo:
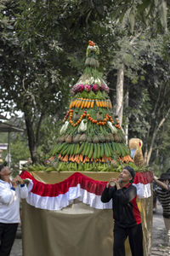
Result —
[[117, 72], [116, 81], [116, 115], [122, 125], [122, 113], [123, 113], [123, 81], [124, 81], [124, 65], [122, 64]]

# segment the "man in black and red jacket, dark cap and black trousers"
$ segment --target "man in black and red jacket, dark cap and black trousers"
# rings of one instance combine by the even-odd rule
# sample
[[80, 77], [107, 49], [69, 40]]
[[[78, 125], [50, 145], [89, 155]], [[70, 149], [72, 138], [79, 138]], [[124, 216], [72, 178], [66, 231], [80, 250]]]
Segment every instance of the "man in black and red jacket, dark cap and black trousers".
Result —
[[122, 169], [118, 179], [111, 178], [101, 196], [102, 202], [112, 199], [114, 222], [114, 256], [125, 256], [124, 242], [129, 239], [132, 256], [143, 256], [143, 231], [137, 191], [133, 186], [135, 172], [130, 166]]

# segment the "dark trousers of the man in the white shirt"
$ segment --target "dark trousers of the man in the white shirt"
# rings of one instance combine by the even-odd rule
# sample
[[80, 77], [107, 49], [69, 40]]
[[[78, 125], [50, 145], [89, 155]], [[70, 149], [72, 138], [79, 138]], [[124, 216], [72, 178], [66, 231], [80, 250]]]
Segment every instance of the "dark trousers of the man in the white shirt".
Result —
[[9, 256], [18, 224], [0, 223], [0, 255]]

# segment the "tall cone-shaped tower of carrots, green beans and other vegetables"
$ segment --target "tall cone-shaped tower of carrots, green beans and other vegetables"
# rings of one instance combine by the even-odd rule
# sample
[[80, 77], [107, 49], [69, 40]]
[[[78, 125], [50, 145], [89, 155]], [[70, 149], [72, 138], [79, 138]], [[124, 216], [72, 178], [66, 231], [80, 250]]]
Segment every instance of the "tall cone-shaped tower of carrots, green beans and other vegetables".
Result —
[[[124, 132], [112, 113], [109, 87], [98, 71], [99, 47], [89, 41], [85, 69], [72, 88], [64, 123], [48, 163], [61, 171], [107, 171], [133, 161]], [[113, 170], [114, 171], [114, 170]]]

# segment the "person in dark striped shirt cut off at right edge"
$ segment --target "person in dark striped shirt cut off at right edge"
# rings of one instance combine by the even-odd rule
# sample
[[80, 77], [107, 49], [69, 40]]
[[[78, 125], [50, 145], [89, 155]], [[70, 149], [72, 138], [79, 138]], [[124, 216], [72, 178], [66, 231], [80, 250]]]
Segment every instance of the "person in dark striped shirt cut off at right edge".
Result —
[[161, 173], [161, 177], [154, 176], [156, 187], [154, 188], [154, 194], [157, 196], [163, 209], [163, 220], [166, 228], [166, 240], [167, 245], [170, 245], [170, 174]]

